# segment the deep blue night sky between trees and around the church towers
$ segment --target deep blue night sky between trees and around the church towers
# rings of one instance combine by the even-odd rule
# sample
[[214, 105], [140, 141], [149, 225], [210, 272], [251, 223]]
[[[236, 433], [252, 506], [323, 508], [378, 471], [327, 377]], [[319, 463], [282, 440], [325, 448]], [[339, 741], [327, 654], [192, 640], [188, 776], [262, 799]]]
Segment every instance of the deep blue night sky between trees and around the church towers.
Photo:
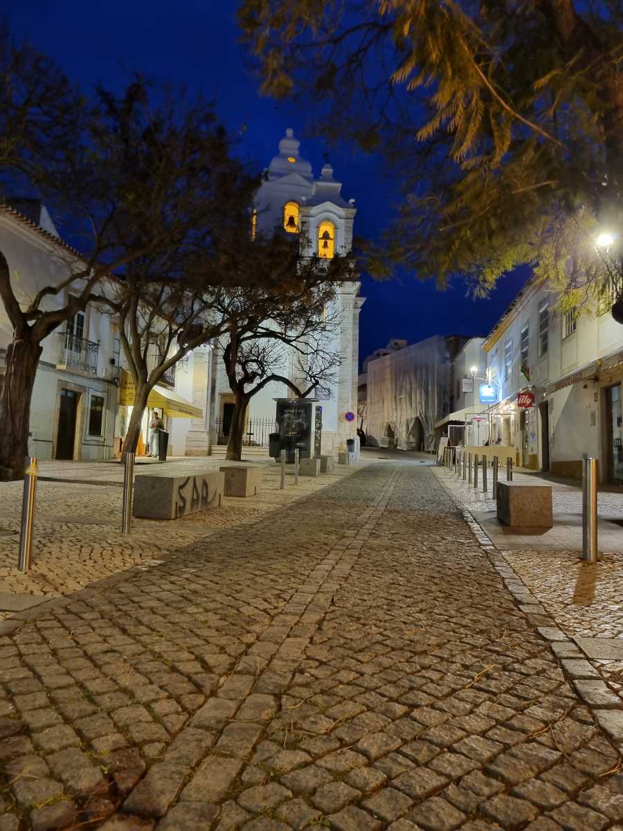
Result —
[[[183, 81], [214, 98], [229, 130], [244, 128], [240, 152], [266, 167], [286, 127], [302, 138], [302, 155], [319, 175], [326, 146], [305, 138], [313, 111], [258, 96], [258, 82], [238, 44], [235, 3], [218, 0], [11, 0], [8, 22], [16, 37], [27, 37], [53, 57], [74, 81], [88, 89], [101, 82], [119, 90], [132, 71]], [[396, 180], [379, 160], [351, 146], [331, 150], [336, 179], [346, 199], [356, 199], [355, 233], [375, 238], [398, 199]], [[407, 277], [375, 283], [362, 275], [367, 298], [361, 312], [360, 358], [390, 337], [409, 342], [433, 334], [486, 334], [521, 288], [526, 270], [504, 278], [487, 300], [465, 297], [460, 284], [439, 293], [430, 283]]]

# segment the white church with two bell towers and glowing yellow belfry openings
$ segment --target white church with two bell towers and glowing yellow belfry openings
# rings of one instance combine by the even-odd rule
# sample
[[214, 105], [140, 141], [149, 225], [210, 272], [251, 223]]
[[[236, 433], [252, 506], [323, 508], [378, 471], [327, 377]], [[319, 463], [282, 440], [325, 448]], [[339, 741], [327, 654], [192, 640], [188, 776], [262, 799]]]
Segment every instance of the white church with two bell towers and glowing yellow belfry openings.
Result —
[[[355, 200], [342, 197], [341, 183], [334, 179], [328, 163], [316, 179], [312, 165], [300, 155], [299, 145], [292, 130], [286, 130], [258, 190], [254, 214], [257, 229], [270, 234], [273, 229], [282, 228], [286, 233], [299, 234], [302, 244], [321, 257], [346, 254], [352, 247]], [[326, 454], [346, 450], [346, 439], [356, 438], [356, 421], [349, 420], [347, 414], [356, 413], [357, 409], [359, 312], [364, 302], [359, 297], [360, 286], [355, 281], [341, 284], [335, 300], [340, 325], [333, 347], [340, 353], [341, 363], [333, 381], [317, 396], [322, 407], [322, 453]], [[286, 364], [288, 377], [296, 383], [292, 361]], [[246, 443], [267, 445], [276, 413], [275, 399], [293, 396], [287, 385], [277, 382], [253, 396], [248, 406]], [[210, 441], [212, 445], [223, 445], [228, 440], [234, 398], [218, 347], [213, 354], [211, 399]]]

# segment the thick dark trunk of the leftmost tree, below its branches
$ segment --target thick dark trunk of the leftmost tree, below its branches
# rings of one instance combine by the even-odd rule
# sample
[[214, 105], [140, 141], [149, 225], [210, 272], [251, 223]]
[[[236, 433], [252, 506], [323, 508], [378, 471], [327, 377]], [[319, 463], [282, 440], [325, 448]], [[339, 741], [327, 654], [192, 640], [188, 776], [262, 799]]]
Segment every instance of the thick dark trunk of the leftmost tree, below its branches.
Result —
[[22, 337], [9, 344], [0, 391], [0, 481], [24, 478], [32, 388], [42, 353], [39, 342]]

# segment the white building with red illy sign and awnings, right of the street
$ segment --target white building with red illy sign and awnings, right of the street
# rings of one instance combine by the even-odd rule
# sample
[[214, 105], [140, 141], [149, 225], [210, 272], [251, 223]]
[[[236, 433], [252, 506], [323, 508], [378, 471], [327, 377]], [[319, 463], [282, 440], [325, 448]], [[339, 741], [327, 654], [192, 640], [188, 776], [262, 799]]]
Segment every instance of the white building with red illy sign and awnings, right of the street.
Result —
[[514, 446], [518, 465], [577, 478], [586, 453], [602, 483], [623, 484], [623, 327], [610, 306], [558, 312], [532, 280], [488, 336], [493, 440]]

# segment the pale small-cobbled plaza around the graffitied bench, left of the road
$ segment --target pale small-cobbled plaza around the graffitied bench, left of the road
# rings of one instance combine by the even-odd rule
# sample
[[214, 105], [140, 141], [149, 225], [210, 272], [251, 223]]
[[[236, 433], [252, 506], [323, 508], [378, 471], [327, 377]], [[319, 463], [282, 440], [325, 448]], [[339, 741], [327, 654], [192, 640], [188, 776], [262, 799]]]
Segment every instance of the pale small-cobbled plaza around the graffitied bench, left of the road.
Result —
[[[159, 470], [218, 470], [225, 464], [223, 460], [193, 459], [167, 463]], [[291, 486], [292, 475], [288, 474], [287, 489], [280, 490], [277, 465], [259, 466], [264, 484], [258, 497], [225, 497], [218, 510], [190, 514], [170, 524], [133, 519], [133, 534], [128, 538], [120, 534], [121, 465], [43, 462], [28, 573], [17, 570], [22, 483], [0, 484], [0, 593], [60, 597], [127, 568], [149, 567], [180, 546], [225, 528], [253, 523], [350, 471], [338, 466], [328, 478], [301, 477], [297, 488]], [[137, 465], [135, 470], [140, 474], [148, 468]], [[0, 612], [0, 620], [6, 617], [8, 613]]]

